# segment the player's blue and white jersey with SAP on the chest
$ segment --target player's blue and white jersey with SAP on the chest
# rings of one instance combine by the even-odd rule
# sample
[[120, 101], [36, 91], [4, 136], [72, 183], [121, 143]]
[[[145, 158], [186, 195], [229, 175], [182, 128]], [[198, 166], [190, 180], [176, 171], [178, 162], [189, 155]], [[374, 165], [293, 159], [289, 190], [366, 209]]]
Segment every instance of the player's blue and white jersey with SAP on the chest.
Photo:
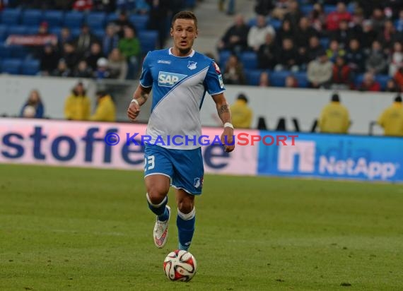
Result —
[[[163, 138], [164, 148], [190, 150], [199, 148], [198, 143], [175, 145], [169, 141], [175, 135], [182, 138], [199, 138], [202, 135], [200, 109], [204, 95], [223, 93], [225, 90], [220, 69], [213, 59], [192, 53], [176, 57], [170, 49], [148, 52], [143, 63], [141, 86], [153, 88], [151, 116], [146, 134]], [[184, 141], [182, 139], [182, 141]]]

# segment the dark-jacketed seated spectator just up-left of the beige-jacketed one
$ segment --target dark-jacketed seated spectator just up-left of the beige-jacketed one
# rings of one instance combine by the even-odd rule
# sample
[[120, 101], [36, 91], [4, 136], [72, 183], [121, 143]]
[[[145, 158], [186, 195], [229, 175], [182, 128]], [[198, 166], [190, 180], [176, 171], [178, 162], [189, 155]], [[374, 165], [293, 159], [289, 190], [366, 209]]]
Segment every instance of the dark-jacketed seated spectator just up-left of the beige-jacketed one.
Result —
[[278, 64], [274, 66], [274, 71], [299, 71], [299, 57], [291, 38], [283, 40], [282, 49], [277, 52]]

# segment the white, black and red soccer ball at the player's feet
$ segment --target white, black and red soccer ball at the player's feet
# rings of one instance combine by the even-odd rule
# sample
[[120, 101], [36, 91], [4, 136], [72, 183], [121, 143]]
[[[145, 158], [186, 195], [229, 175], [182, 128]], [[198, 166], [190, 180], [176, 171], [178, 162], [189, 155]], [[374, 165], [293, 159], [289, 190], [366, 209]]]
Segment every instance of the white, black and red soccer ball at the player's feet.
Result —
[[192, 280], [196, 271], [196, 259], [188, 251], [177, 249], [170, 252], [164, 260], [164, 272], [171, 281], [188, 282]]

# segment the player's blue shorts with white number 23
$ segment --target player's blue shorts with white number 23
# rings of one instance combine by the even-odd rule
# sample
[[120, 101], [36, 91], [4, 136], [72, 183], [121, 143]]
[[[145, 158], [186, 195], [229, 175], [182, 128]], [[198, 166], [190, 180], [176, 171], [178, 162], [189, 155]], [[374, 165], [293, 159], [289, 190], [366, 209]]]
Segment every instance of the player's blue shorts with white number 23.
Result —
[[204, 165], [202, 148], [175, 150], [159, 145], [145, 145], [144, 177], [163, 174], [170, 177], [170, 184], [189, 194], [202, 194]]

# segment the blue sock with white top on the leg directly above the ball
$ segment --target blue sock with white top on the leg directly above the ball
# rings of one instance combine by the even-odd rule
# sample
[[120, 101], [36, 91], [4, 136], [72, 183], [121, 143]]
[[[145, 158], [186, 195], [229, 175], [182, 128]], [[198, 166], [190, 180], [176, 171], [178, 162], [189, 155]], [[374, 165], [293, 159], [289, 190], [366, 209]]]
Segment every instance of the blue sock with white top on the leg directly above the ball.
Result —
[[179, 249], [187, 251], [192, 242], [194, 234], [194, 223], [196, 222], [196, 210], [193, 208], [190, 213], [181, 213], [177, 210], [177, 235], [179, 237]]

